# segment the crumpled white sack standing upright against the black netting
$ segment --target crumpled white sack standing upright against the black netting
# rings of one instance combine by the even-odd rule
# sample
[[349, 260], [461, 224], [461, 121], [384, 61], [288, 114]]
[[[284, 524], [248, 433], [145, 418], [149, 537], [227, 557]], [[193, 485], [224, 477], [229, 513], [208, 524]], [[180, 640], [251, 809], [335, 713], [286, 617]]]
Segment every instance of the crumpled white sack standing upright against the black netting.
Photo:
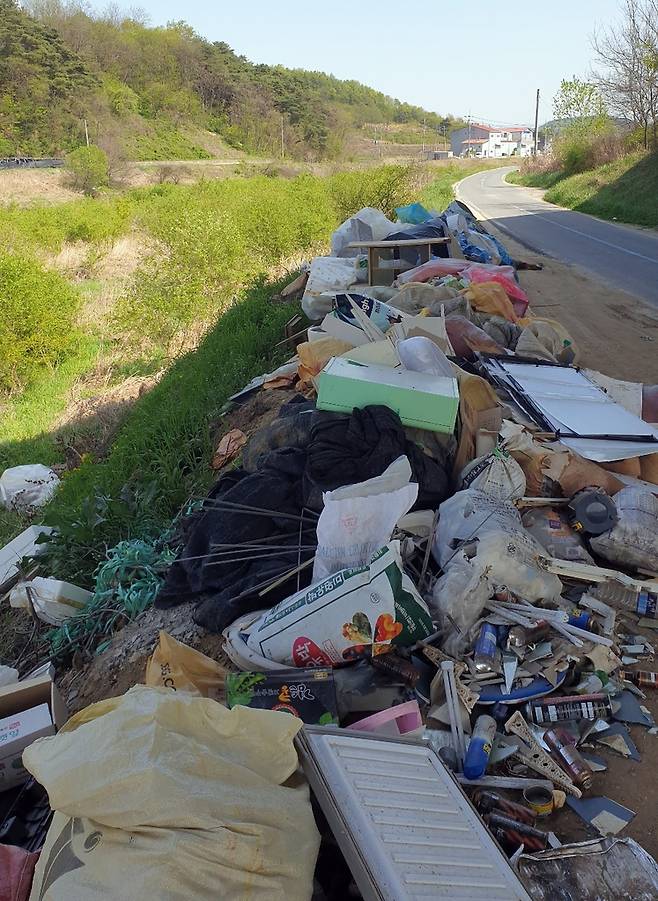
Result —
[[418, 485], [402, 456], [374, 479], [322, 495], [313, 582], [340, 569], [363, 566], [391, 539], [395, 524], [416, 502]]

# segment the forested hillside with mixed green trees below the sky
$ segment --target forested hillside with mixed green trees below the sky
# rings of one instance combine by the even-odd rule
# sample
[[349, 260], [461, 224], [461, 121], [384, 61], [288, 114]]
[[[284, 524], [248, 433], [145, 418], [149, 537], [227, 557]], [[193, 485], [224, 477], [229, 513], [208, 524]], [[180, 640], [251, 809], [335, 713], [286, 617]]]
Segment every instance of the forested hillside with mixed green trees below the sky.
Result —
[[[90, 139], [112, 157], [194, 159], [214, 132], [249, 153], [337, 158], [348, 134], [454, 120], [357, 81], [258, 65], [185, 22], [92, 15], [84, 3], [0, 0], [0, 156], [53, 154]], [[372, 128], [370, 132], [372, 133]]]

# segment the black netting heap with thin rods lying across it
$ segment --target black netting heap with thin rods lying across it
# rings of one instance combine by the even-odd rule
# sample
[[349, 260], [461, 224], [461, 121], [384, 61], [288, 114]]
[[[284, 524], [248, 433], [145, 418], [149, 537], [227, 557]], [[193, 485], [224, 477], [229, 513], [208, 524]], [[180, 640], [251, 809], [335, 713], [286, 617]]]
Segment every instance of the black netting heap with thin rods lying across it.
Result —
[[[306, 560], [312, 550], [299, 556], [299, 517], [302, 510], [322, 508], [322, 491], [351, 485], [379, 476], [402, 454], [409, 458], [412, 478], [419, 484], [416, 507], [436, 509], [448, 494], [447, 465], [423, 453], [405, 435], [399, 416], [388, 407], [355, 409], [351, 416], [309, 411], [301, 404], [287, 404], [282, 417], [259, 432], [249, 453], [250, 467], [234, 470], [217, 483], [206, 500], [203, 512], [192, 528], [187, 544], [170, 568], [156, 607], [173, 607], [190, 599], [199, 603], [195, 621], [211, 631], [220, 632], [241, 616], [272, 607], [297, 588], [297, 575], [259, 597], [263, 582], [274, 579]], [[278, 447], [288, 430], [291, 440], [306, 447]], [[268, 438], [274, 450], [268, 452]], [[271, 516], [229, 511], [213, 506], [224, 500], [271, 510]], [[287, 519], [281, 514], [290, 515]], [[316, 518], [309, 516], [302, 536], [303, 545], [317, 544]], [[222, 544], [237, 544], [271, 538], [272, 545], [285, 549], [252, 557], [239, 548], [231, 558], [248, 560], [217, 563], [213, 551]], [[288, 549], [289, 548], [289, 549]], [[270, 553], [272, 556], [270, 556]], [[306, 587], [312, 568], [302, 570], [300, 587]]]

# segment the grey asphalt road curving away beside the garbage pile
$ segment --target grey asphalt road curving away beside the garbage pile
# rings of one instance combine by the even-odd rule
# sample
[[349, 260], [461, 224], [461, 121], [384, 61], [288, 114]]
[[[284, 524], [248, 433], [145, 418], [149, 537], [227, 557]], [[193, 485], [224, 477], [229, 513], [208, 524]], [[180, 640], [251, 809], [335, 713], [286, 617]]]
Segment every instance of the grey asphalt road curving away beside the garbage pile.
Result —
[[526, 247], [586, 269], [658, 307], [658, 232], [546, 203], [537, 190], [508, 184], [505, 175], [512, 169], [470, 175], [459, 183], [458, 198]]

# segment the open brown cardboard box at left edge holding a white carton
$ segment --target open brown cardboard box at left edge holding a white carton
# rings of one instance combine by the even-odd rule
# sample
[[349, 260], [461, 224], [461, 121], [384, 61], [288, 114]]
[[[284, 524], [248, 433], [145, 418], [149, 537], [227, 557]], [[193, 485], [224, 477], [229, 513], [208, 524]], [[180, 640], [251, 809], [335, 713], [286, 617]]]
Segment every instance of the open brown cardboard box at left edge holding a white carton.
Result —
[[[35, 709], [40, 711], [38, 715], [33, 714]], [[0, 688], [0, 726], [7, 726], [8, 721], [14, 723], [9, 731], [16, 733], [11, 735], [11, 741], [7, 732], [4, 741], [0, 737], [0, 791], [29, 778], [22, 768], [23, 751], [37, 738], [53, 735], [67, 719], [66, 705], [48, 673]]]

